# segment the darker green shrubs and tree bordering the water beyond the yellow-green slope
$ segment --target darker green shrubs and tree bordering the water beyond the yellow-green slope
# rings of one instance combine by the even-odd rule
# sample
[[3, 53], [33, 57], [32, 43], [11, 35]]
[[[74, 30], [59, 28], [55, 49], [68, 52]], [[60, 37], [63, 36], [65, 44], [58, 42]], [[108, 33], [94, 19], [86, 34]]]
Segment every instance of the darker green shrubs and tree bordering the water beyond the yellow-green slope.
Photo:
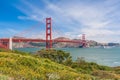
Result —
[[70, 53], [62, 50], [40, 50], [36, 53], [39, 57], [48, 58], [54, 62], [69, 66], [78, 73], [89, 74], [96, 77], [96, 80], [120, 80], [120, 67], [112, 68], [108, 66], [98, 65], [93, 62], [86, 62], [83, 57], [78, 57], [76, 61], [72, 61]]

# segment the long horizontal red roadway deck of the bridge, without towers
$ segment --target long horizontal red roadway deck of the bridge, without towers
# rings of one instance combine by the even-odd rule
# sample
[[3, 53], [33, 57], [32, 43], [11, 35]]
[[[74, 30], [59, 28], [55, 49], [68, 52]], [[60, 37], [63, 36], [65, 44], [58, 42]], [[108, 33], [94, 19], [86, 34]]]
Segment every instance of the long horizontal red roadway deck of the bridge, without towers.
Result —
[[[1, 38], [0, 42], [9, 42], [9, 38]], [[44, 39], [30, 39], [30, 38], [12, 38], [12, 42], [46, 42]], [[52, 42], [68, 42], [68, 43], [82, 43], [82, 40], [60, 40], [53, 39]]]

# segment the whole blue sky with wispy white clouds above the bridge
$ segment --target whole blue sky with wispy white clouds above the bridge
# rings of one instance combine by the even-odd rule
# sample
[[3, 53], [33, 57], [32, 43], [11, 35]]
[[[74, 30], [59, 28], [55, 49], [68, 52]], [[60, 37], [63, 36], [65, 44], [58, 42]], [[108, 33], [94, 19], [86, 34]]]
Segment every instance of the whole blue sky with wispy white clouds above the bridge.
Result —
[[0, 38], [23, 36], [36, 24], [26, 36], [43, 38], [46, 17], [52, 17], [53, 37], [120, 42], [120, 0], [1, 0]]

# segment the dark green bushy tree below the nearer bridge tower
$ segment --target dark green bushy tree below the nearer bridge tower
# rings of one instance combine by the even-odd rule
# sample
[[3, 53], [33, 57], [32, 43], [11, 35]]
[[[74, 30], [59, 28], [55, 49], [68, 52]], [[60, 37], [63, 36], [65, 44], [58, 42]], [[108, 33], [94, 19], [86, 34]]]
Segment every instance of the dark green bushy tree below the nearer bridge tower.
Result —
[[55, 50], [55, 49], [50, 49], [50, 50], [45, 50], [42, 49], [36, 53], [39, 57], [43, 58], [48, 58], [54, 62], [57, 63], [67, 63], [72, 61], [72, 58], [70, 56], [70, 53], [67, 53], [62, 50]]

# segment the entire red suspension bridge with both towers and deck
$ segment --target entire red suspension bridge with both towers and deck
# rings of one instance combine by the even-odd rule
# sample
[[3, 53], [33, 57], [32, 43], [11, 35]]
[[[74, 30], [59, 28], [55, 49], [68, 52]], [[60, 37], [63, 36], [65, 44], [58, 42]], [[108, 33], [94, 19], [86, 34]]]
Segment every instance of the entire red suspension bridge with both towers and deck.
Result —
[[0, 38], [0, 48], [12, 49], [14, 42], [44, 42], [46, 43], [46, 49], [52, 48], [52, 44], [55, 42], [67, 42], [67, 43], [78, 43], [83, 47], [86, 47], [87, 42], [85, 34], [82, 35], [80, 40], [63, 40], [63, 39], [52, 39], [52, 19], [46, 18], [46, 39], [31, 39], [31, 38]]

